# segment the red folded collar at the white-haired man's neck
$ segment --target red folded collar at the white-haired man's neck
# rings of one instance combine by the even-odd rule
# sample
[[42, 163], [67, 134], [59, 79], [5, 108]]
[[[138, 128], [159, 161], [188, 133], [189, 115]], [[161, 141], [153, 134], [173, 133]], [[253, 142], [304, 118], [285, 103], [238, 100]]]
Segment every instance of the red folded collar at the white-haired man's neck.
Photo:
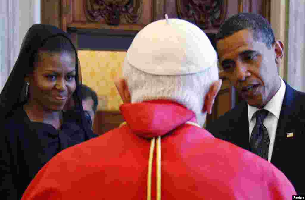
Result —
[[191, 110], [166, 100], [127, 103], [120, 110], [133, 133], [145, 138], [165, 135], [195, 117]]

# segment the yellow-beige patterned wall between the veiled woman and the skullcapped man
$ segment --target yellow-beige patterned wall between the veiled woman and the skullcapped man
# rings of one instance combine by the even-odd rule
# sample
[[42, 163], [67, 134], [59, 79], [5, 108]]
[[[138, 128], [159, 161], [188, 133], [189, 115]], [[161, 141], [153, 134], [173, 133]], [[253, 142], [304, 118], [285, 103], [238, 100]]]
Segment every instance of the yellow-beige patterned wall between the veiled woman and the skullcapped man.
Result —
[[99, 98], [98, 110], [119, 110], [123, 103], [114, 80], [122, 76], [126, 52], [78, 50], [82, 81]]

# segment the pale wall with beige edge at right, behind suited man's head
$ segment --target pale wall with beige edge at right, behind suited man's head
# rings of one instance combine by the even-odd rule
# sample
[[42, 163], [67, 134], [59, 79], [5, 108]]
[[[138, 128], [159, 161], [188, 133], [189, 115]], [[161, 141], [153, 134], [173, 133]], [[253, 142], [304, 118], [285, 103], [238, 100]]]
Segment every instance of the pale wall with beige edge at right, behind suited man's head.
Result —
[[271, 0], [271, 26], [285, 46], [280, 76], [299, 91], [305, 91], [304, 19], [304, 0]]

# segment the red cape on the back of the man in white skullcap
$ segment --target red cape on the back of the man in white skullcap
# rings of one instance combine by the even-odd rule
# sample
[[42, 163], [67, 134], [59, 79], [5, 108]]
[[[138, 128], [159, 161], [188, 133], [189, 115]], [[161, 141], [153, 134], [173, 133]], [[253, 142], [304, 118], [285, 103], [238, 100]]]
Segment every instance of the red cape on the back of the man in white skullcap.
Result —
[[[150, 108], [145, 108], [145, 104]], [[163, 135], [163, 200], [284, 200], [296, 194], [292, 184], [272, 164], [214, 138], [205, 129], [183, 124], [184, 120], [175, 116], [178, 110], [181, 119], [189, 117], [187, 109], [184, 108], [185, 115], [180, 112], [182, 106], [161, 104], [122, 106], [127, 125], [63, 150], [41, 169], [22, 200], [146, 199], [150, 139], [138, 135], [141, 135], [140, 131], [144, 131], [141, 135], [144, 137], [154, 135], [153, 127], [157, 130], [156, 135]], [[161, 115], [159, 108], [173, 120]], [[173, 111], [170, 113], [168, 108]], [[132, 116], [143, 123], [132, 120]], [[172, 130], [173, 127], [177, 128]], [[164, 135], [165, 129], [172, 131]], [[156, 199], [156, 153], [152, 165], [152, 199]]]

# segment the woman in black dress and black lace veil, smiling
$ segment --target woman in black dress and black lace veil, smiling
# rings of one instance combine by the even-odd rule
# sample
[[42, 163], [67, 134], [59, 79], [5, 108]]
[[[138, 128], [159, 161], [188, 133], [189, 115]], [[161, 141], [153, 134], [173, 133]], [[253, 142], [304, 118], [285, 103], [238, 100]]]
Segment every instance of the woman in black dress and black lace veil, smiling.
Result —
[[20, 199], [54, 155], [96, 136], [81, 106], [79, 69], [64, 31], [44, 24], [28, 30], [0, 94], [0, 199]]

